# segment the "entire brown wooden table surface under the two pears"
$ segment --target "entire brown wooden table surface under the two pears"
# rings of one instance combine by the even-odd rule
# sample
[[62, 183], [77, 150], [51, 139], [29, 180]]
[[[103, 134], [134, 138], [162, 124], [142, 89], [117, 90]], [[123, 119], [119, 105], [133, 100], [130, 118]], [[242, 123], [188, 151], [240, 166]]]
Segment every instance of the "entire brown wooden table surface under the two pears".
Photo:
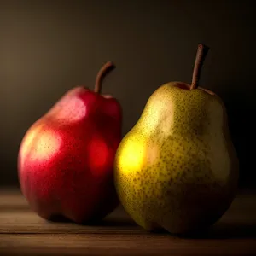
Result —
[[102, 224], [49, 223], [18, 190], [0, 190], [0, 255], [256, 255], [256, 193], [236, 196], [203, 237], [149, 233], [122, 208]]

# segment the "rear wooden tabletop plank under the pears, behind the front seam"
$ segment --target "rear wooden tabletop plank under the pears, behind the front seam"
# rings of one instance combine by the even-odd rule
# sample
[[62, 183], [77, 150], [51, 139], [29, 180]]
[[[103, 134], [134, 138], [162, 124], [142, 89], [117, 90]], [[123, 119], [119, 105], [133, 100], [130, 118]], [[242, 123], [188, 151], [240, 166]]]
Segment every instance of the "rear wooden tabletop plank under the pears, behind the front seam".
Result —
[[[73, 223], [52, 223], [38, 217], [28, 207], [24, 198], [19, 195], [1, 195], [0, 201], [0, 233], [93, 233], [93, 232], [119, 232], [121, 234], [134, 232], [146, 232], [139, 228], [125, 213], [123, 208], [118, 207], [116, 211], [105, 218], [97, 226], [84, 226]], [[13, 203], [12, 203], [13, 202]], [[255, 227], [256, 236], [256, 195], [238, 195], [230, 209], [224, 214], [217, 224], [212, 228], [230, 233], [243, 233], [253, 231]], [[212, 229], [211, 229], [212, 230]], [[230, 236], [232, 235], [230, 234]], [[228, 235], [227, 235], [228, 236]]]

